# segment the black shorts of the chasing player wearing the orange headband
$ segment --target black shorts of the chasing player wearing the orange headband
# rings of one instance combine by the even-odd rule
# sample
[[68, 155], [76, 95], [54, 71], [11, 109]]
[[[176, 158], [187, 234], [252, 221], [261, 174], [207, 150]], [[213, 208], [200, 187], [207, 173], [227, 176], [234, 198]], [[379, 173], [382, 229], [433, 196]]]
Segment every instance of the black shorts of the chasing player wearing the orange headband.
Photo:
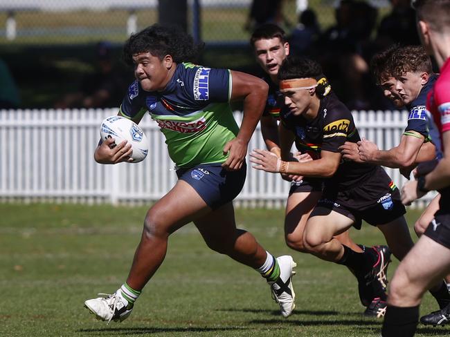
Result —
[[325, 184], [322, 198], [310, 216], [327, 215], [330, 211], [352, 219], [357, 229], [361, 229], [362, 220], [377, 226], [406, 213], [397, 186], [381, 166], [368, 179], [351, 189], [339, 191]]

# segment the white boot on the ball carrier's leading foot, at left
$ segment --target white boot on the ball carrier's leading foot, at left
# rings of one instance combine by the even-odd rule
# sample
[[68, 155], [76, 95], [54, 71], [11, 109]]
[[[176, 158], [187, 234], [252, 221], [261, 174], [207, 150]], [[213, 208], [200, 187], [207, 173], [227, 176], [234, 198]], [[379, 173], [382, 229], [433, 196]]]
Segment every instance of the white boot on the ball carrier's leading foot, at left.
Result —
[[107, 320], [111, 322], [122, 322], [132, 313], [133, 305], [128, 305], [128, 301], [121, 296], [120, 289], [113, 294], [99, 293], [104, 296], [93, 298], [84, 302], [84, 307], [91, 311], [98, 320]]

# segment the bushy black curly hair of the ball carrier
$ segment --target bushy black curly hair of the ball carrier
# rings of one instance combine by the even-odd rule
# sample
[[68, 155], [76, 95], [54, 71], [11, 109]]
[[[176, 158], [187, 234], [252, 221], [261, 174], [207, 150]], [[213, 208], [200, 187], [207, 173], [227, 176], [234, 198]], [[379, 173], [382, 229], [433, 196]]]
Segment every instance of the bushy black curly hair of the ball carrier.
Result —
[[175, 63], [189, 62], [195, 61], [203, 48], [203, 43], [195, 44], [186, 32], [155, 24], [129, 37], [123, 47], [123, 59], [132, 66], [133, 55], [150, 52], [159, 59], [170, 55]]

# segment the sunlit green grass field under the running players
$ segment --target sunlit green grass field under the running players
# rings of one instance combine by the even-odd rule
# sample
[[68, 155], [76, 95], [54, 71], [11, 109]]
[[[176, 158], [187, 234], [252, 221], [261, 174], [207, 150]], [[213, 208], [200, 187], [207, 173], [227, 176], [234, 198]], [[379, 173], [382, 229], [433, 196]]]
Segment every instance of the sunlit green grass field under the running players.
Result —
[[[290, 253], [298, 263], [297, 309], [288, 319], [257, 272], [208, 250], [189, 224], [170, 238], [132, 316], [120, 324], [96, 321], [83, 302], [125, 280], [145, 211], [0, 204], [0, 336], [379, 336], [381, 322], [361, 315], [356, 280], [345, 268], [285, 247], [280, 210], [240, 209], [237, 223], [273, 254]], [[411, 224], [417, 215], [408, 213]], [[384, 242], [368, 225], [352, 236]], [[421, 309], [435, 309], [428, 294]], [[421, 326], [417, 336], [448, 334]]]

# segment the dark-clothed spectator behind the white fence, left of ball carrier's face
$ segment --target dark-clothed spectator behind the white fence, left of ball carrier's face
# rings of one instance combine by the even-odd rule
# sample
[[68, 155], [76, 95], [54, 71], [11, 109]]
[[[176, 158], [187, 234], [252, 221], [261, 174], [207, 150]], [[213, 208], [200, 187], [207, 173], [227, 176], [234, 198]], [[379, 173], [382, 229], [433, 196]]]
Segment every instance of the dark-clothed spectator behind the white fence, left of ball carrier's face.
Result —
[[79, 90], [62, 97], [55, 108], [117, 108], [127, 88], [124, 75], [114, 64], [111, 44], [96, 46], [96, 70], [82, 79]]

